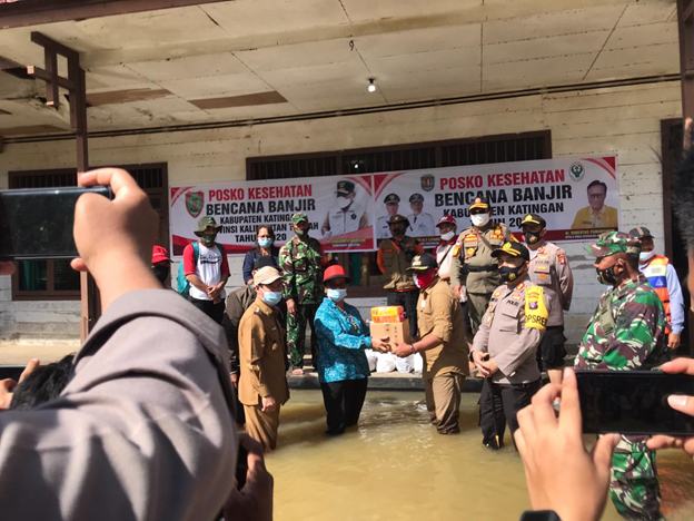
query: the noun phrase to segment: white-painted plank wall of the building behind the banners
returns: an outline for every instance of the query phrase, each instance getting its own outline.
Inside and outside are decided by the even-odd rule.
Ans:
[[[99,138],[90,140],[90,163],[167,163],[169,183],[182,185],[244,179],[246,158],[252,156],[549,129],[554,157],[618,155],[622,229],[650,227],[657,248],[664,237],[660,125],[662,119],[681,117],[681,110],[680,85],[656,83],[257,127]],[[73,141],[7,145],[0,154],[0,187],[7,187],[11,170],[61,167],[75,167]],[[565,245],[576,278],[567,317],[572,343],[579,341],[602,292],[584,245]],[[238,285],[240,260],[231,259],[230,265],[230,285]],[[9,281],[0,281],[0,338],[79,335],[79,303],[13,303],[8,288]]]

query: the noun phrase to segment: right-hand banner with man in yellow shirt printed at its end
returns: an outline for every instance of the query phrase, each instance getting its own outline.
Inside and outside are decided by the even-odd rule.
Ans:
[[[615,156],[375,174],[374,189],[377,239],[390,236],[386,220],[397,213],[409,220],[407,234],[425,247],[438,244],[435,225],[445,214],[456,218],[458,232],[470,226],[467,208],[477,197],[486,198],[494,218],[513,233],[520,233],[526,215],[541,215],[552,242],[592,239],[619,225]],[[386,205],[394,199],[398,206]]]

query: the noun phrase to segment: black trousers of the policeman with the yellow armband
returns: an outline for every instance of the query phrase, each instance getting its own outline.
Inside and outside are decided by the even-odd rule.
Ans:
[[[531,404],[539,386],[539,379],[527,384],[496,384],[485,379],[479,396],[482,443],[490,449],[500,449],[504,445],[506,423],[508,423],[513,440],[513,434],[518,429],[516,415],[518,411]],[[514,446],[516,446],[515,440]]]

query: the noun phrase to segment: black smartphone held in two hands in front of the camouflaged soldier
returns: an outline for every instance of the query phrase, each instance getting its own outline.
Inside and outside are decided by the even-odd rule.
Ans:
[[[667,404],[694,396],[694,376],[660,371],[576,371],[584,433],[693,435],[694,417]]]

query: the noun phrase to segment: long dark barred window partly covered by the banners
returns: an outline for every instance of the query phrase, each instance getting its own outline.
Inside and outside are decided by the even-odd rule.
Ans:
[[[486,136],[450,141],[418,142],[393,147],[307,154],[297,156],[251,157],[246,163],[246,179],[341,176],[379,171],[416,170],[489,163],[525,161],[552,157],[549,130]],[[375,253],[337,254],[337,262],[350,274],[350,295],[381,294],[383,276]]]

